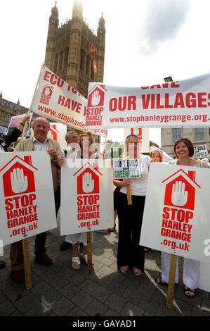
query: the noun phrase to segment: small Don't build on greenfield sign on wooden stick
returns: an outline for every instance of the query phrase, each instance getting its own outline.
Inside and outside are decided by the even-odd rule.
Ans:
[[[140,178],[139,158],[119,158],[113,160],[114,180]],[[132,204],[131,185],[126,186],[128,205]]]

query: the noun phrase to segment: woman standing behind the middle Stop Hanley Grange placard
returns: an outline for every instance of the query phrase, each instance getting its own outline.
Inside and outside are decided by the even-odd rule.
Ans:
[[[91,158],[98,159],[102,158],[100,154],[95,153],[95,139],[91,132],[87,131],[79,135],[79,146],[80,151],[74,151],[67,158]],[[92,148],[93,147],[93,148]],[[94,151],[93,151],[94,150]],[[59,165],[63,165],[65,158],[60,158]],[[76,233],[74,235],[67,235],[65,237],[65,241],[72,244],[73,254],[72,254],[72,268],[74,270],[79,270],[81,268],[81,262],[79,257],[79,243],[83,244],[83,253],[81,254],[81,258],[88,264],[88,256],[87,256],[87,233],[81,232]],[[92,261],[93,264],[93,261]]]

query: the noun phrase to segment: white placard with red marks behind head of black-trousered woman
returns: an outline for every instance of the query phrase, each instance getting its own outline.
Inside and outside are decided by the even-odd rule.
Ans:
[[[140,142],[140,153],[148,153],[150,151],[150,132],[149,129],[127,128],[124,129],[124,142],[128,135],[136,135]]]

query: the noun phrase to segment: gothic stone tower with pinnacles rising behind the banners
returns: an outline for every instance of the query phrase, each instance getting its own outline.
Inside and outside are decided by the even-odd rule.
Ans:
[[[58,8],[55,1],[49,18],[45,65],[87,97],[88,82],[103,82],[103,15],[98,22],[97,35],[93,35],[93,31],[83,20],[81,0],[74,0],[72,19],[60,27],[58,25]]]

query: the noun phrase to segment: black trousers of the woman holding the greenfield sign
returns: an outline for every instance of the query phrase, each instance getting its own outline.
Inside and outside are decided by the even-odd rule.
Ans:
[[[139,240],[145,196],[132,196],[132,205],[128,205],[126,194],[119,192],[118,198],[117,266],[132,266],[144,271],[145,251],[144,247],[139,245]]]

